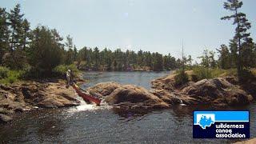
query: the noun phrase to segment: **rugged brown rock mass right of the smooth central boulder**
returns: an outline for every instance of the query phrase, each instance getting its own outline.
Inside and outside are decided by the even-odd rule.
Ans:
[[[186,73],[191,73],[190,71]],[[151,82],[151,93],[171,105],[209,104],[211,106],[238,106],[249,104],[255,88],[245,89],[239,86],[235,78],[211,78],[198,82],[186,82],[183,86],[175,86],[175,74],[157,78]],[[251,90],[251,91],[249,91]]]

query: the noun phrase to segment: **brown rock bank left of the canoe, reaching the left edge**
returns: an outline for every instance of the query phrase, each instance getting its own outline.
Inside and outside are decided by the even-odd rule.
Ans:
[[[66,83],[59,80],[0,85],[0,123],[10,122],[16,112],[78,106],[76,97],[74,90],[66,89]]]

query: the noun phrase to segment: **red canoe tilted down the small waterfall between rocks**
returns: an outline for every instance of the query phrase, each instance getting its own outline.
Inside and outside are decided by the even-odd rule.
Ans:
[[[73,84],[72,87],[74,88],[74,90],[78,93],[78,96],[79,97],[82,97],[82,99],[84,101],[89,101],[89,102],[94,102],[97,104],[97,106],[100,106],[101,104],[101,100],[98,99],[98,98],[94,98],[93,96],[89,95],[89,94],[85,94],[83,93],[80,88],[76,85],[76,84]]]

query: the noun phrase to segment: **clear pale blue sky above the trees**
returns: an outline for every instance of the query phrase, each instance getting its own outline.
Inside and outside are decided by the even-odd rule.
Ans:
[[[180,58],[193,58],[202,50],[215,50],[234,36],[224,0],[0,0],[10,10],[20,3],[32,27],[41,24],[70,34],[78,49],[149,50]],[[252,24],[256,39],[256,1],[244,0],[242,12]]]

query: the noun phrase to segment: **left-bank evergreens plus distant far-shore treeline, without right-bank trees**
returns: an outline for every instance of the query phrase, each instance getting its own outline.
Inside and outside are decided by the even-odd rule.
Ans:
[[[70,35],[63,42],[55,29],[37,26],[31,30],[19,4],[10,12],[0,8],[0,30],[0,65],[11,70],[47,75],[58,65],[74,62],[82,70],[172,70],[181,65],[181,60],[170,54],[142,50],[100,51],[97,47],[84,47],[78,51]]]

